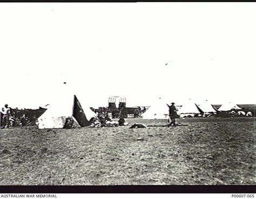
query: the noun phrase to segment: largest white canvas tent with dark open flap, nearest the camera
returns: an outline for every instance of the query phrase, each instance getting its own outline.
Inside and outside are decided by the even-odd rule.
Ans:
[[[72,118],[76,126],[88,126],[96,114],[86,106],[84,100],[78,101],[76,95],[58,95],[49,108],[38,118],[38,128],[63,128],[67,118]]]

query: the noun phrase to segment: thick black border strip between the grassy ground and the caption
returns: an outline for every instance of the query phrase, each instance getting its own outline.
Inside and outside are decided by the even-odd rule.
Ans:
[[[254,194],[253,185],[225,186],[0,186],[0,193],[49,193],[49,194],[89,194],[89,193],[166,193],[166,194]]]

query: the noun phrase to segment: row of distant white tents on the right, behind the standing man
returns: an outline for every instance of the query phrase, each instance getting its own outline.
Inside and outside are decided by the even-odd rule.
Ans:
[[[178,115],[181,117],[196,114],[208,114],[208,113],[217,113],[217,111],[231,111],[233,109],[241,109],[239,106],[228,102],[219,107],[215,108],[207,100],[201,102],[200,104],[193,102],[191,99],[183,103],[183,105],[178,108]],[[143,119],[166,119],[169,115],[168,107],[166,103],[159,98],[153,106],[151,106],[144,114]]]

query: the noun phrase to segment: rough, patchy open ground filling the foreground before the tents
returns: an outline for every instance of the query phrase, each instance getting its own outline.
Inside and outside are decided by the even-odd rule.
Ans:
[[[0,130],[0,185],[255,184],[254,118],[126,121]]]

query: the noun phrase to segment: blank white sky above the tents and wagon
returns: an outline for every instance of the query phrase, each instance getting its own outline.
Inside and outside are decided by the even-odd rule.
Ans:
[[[2,3],[0,105],[256,104],[256,3]],[[165,65],[168,63],[167,65]],[[33,84],[33,85],[28,85]]]

